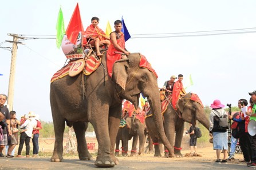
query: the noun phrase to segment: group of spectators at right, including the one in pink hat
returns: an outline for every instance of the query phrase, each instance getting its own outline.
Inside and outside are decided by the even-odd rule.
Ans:
[[[238,100],[238,108],[240,112],[236,112],[233,115],[227,115],[223,109],[224,104],[220,100],[214,100],[211,104],[210,114],[210,128],[209,135],[213,137],[213,147],[216,150],[215,163],[227,163],[228,160],[233,160],[235,156],[235,146],[239,138],[239,144],[241,145],[243,160],[241,162],[247,163],[247,167],[256,167],[256,135],[251,136],[248,132],[248,124],[251,120],[256,119],[256,91],[249,92],[250,106],[247,107],[246,99]],[[231,106],[230,106],[231,107]],[[228,157],[228,124],[227,118],[233,120],[231,124],[231,130],[238,133],[231,133],[231,145],[230,153]],[[235,135],[235,136],[233,136]],[[223,151],[223,159],[220,159],[220,153]]]

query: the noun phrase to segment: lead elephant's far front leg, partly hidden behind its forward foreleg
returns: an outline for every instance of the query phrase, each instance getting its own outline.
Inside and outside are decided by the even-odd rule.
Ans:
[[[117,136],[117,132],[119,131],[119,126],[121,121],[121,112],[122,112],[121,104],[109,110],[108,128],[109,128],[109,137],[111,141],[110,156],[111,156],[111,160],[114,161],[115,164],[119,164],[119,160],[115,156],[114,151],[115,151],[116,136]]]

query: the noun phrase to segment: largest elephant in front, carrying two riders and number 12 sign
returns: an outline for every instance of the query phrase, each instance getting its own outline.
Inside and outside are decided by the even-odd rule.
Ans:
[[[86,76],[82,72],[76,76],[64,76],[50,84],[50,106],[54,123],[55,143],[51,161],[62,161],[65,122],[73,126],[77,137],[77,151],[80,160],[90,160],[86,149],[85,122],[90,122],[99,144],[97,167],[114,167],[119,161],[114,154],[117,131],[121,119],[123,99],[132,102],[137,109],[139,96],[147,97],[156,124],[157,132],[167,147],[173,152],[163,128],[157,75],[148,67],[141,67],[147,59],[139,53],[132,53],[113,64],[112,78],[107,74],[107,55],[101,56],[100,66]],[[144,59],[143,59],[144,58]],[[170,155],[174,156],[174,155]]]

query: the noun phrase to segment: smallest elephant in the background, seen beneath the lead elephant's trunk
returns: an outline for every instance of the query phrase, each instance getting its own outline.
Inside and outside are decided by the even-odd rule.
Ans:
[[[126,118],[125,127],[120,127],[116,136],[115,155],[119,156],[119,143],[122,141],[122,156],[128,156],[128,141],[132,139],[131,156],[136,155],[137,141],[139,137],[139,155],[143,152],[145,144],[145,123],[141,123],[139,119],[132,117]]]

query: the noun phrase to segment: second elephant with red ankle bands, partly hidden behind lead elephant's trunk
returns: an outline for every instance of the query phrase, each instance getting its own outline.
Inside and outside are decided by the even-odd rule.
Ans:
[[[177,111],[175,111],[169,103],[167,110],[163,113],[164,130],[170,144],[174,147],[174,154],[176,157],[182,156],[180,150],[182,149],[181,144],[184,131],[184,122],[191,123],[192,126],[195,127],[196,120],[198,120],[198,122],[203,124],[203,126],[207,129],[210,127],[210,122],[204,112],[203,106],[200,103],[191,100],[191,96],[192,94],[188,93],[178,100]],[[182,118],[179,116],[179,111]],[[152,124],[152,120],[153,119],[149,116],[145,119],[145,123],[148,128],[149,135],[151,135],[153,143],[155,144],[155,156],[161,156],[162,151],[159,148],[159,145],[162,142],[159,140],[156,133],[157,128]],[[165,157],[168,157],[168,155],[170,155],[170,153],[165,150]]]

